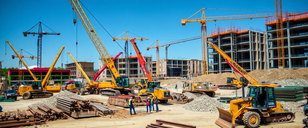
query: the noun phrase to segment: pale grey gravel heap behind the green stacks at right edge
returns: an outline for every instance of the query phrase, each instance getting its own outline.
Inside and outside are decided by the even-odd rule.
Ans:
[[[281,87],[285,87],[285,86],[308,86],[308,80],[304,80],[304,79],[276,80],[274,82],[281,84]]]

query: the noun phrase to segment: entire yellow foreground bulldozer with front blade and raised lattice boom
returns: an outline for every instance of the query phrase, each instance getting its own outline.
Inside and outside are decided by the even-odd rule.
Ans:
[[[242,98],[230,101],[230,109],[228,111],[216,107],[219,111],[219,118],[215,122],[217,125],[224,128],[232,128],[235,125],[236,119],[242,119],[246,127],[256,128],[261,120],[265,124],[279,124],[292,122],[295,119],[293,112],[285,111],[282,104],[276,102],[274,91],[276,84],[259,83],[219,47],[212,42],[208,41],[207,43],[225,59],[225,62],[235,72],[239,73],[250,83],[248,85],[248,95],[245,96],[244,86],[242,86]]]

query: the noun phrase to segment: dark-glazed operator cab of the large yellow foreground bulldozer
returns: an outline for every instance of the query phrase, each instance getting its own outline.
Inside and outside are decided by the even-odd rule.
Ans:
[[[249,86],[248,97],[252,96],[251,106],[256,108],[276,107],[276,96],[274,87]]]

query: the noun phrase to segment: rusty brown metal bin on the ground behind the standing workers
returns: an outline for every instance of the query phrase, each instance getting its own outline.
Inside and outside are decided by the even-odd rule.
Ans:
[[[145,105],[145,102],[141,99],[140,96],[135,95],[119,95],[119,96],[109,96],[107,103],[115,105],[115,106],[121,106],[121,107],[129,107],[128,106],[128,100],[130,97],[133,97],[135,102],[133,103],[134,106],[142,106]]]

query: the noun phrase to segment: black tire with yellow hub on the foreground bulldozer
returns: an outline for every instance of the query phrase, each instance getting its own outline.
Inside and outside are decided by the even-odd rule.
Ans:
[[[255,111],[245,112],[243,122],[248,128],[256,128],[260,124],[260,115]]]

